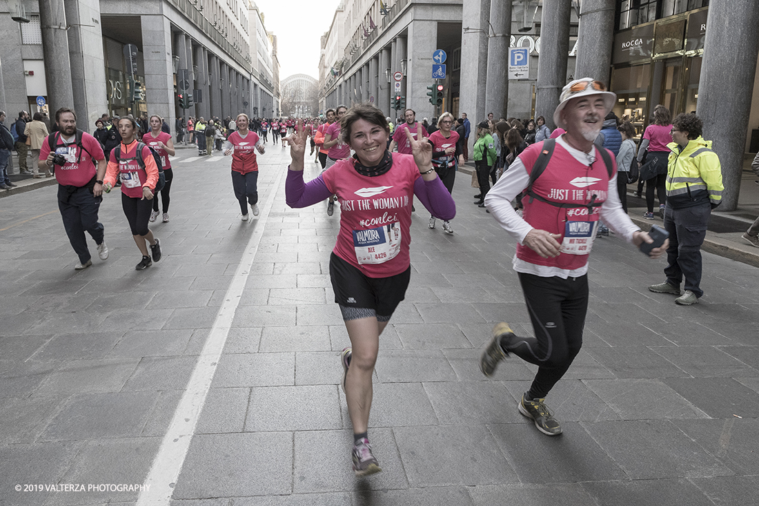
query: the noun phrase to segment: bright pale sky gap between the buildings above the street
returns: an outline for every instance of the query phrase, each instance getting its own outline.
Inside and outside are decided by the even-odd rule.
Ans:
[[[277,36],[279,79],[308,74],[319,79],[320,38],[340,0],[255,0],[266,30]]]

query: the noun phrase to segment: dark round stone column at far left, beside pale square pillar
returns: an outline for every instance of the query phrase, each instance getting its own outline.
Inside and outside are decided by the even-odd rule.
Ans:
[[[55,124],[56,110],[61,107],[74,107],[74,88],[71,85],[71,59],[69,59],[68,52],[63,0],[39,2],[39,24],[43,33],[43,58],[45,59],[49,117],[51,125],[53,125]],[[12,115],[13,112],[9,111],[8,114]],[[87,130],[89,131],[89,128]]]

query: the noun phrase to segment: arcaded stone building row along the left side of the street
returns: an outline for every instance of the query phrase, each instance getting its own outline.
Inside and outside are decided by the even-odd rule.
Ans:
[[[90,131],[102,113],[157,114],[173,128],[178,115],[275,109],[272,34],[249,0],[31,0],[30,22],[11,14],[0,12],[4,40],[17,40],[0,60],[11,111],[73,106]]]

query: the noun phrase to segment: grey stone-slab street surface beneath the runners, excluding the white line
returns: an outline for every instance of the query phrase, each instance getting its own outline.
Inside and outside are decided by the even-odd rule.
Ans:
[[[412,216],[411,285],[373,376],[383,473],[356,479],[337,355],[349,340],[329,280],[339,210],[289,209],[274,186],[288,154],[272,147],[260,157],[268,216],[241,222],[227,169],[207,177],[226,162],[192,158],[172,186],[172,221],[151,225],[164,258],[141,272],[118,194],[100,211],[111,258],[80,272],[55,188],[3,201],[0,502],[134,504],[8,491],[142,482],[254,232],[172,504],[752,504],[759,493],[755,268],[704,253],[705,296],[680,307],[647,290],[665,261],[597,241],[584,347],[546,400],[565,432],[546,438],[516,409],[535,366],[512,356],[493,378],[477,368],[496,321],[533,329],[515,242],[468,203],[463,174],[453,236],[427,229],[424,210]],[[307,164],[305,177],[318,172]],[[42,217],[18,224],[27,216]]]

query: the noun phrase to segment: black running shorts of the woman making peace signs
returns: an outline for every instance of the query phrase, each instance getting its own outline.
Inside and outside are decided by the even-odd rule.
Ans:
[[[390,277],[368,277],[356,267],[332,253],[329,257],[329,279],[335,302],[346,308],[370,308],[377,315],[389,316],[404,299],[411,266]]]

